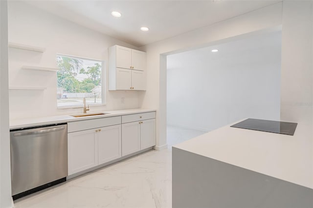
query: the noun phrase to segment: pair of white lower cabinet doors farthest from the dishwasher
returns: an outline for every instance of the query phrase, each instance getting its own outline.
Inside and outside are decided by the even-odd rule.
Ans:
[[[122,156],[156,145],[156,119],[122,124]]]

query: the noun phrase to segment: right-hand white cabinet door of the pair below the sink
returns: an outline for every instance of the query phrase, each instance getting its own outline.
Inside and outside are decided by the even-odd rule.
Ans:
[[[122,156],[122,125],[100,128],[98,131],[98,165]]]

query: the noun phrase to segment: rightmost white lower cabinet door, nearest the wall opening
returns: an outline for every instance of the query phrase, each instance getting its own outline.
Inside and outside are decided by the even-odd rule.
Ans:
[[[140,143],[141,149],[156,145],[156,119],[141,121]]]

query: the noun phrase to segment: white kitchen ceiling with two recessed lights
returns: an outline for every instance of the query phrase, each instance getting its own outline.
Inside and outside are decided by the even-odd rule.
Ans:
[[[134,46],[157,42],[281,0],[23,0]],[[121,18],[111,15],[113,10]],[[148,32],[140,31],[146,26]]]

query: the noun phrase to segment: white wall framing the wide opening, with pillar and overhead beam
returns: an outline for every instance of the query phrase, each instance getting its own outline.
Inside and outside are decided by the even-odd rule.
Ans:
[[[166,147],[166,55],[236,39],[236,36],[278,27],[282,3],[276,3],[179,36],[155,42],[141,49],[147,52],[147,91],[142,107],[156,108],[156,149]]]

